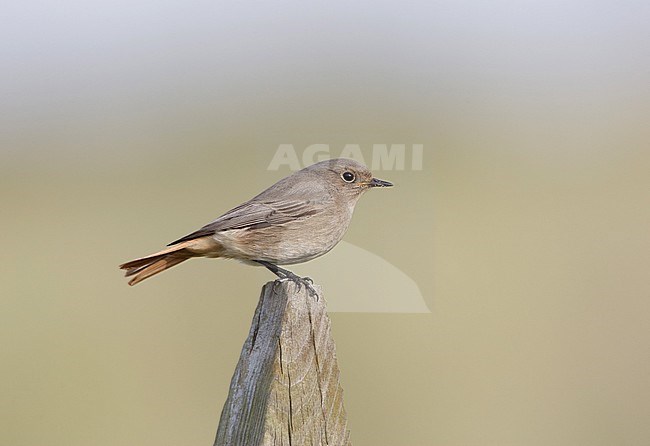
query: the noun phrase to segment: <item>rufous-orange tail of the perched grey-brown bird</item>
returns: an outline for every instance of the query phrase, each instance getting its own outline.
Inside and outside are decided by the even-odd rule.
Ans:
[[[120,269],[126,270],[126,277],[133,276],[129,280],[129,285],[135,285],[189,258],[203,256],[204,252],[201,249],[203,247],[200,246],[200,242],[200,240],[188,240],[170,246],[155,254],[123,263],[120,265]]]

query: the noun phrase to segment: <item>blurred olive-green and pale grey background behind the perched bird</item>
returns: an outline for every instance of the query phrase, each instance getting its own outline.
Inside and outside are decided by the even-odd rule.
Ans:
[[[425,149],[376,172],[398,187],[345,239],[431,310],[331,315],[355,445],[650,444],[647,3],[0,17],[0,444],[211,445],[270,274],[201,260],[130,288],[117,264],[317,143]],[[341,299],[319,262],[300,271]]]

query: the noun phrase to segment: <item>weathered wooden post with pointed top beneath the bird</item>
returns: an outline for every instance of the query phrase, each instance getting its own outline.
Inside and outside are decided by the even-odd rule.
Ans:
[[[262,288],[215,446],[351,446],[336,348],[318,298],[286,279]]]

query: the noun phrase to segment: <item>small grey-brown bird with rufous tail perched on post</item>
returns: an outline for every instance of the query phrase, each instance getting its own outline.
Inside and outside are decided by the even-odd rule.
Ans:
[[[135,285],[191,257],[223,257],[302,281],[278,265],[327,253],[343,237],[359,197],[373,187],[390,186],[357,161],[322,161],[283,178],[167,249],[120,268],[133,276],[129,285]]]

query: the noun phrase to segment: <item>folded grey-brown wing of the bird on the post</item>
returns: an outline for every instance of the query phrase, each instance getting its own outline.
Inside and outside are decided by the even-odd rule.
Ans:
[[[293,220],[311,217],[322,211],[322,206],[316,205],[313,201],[249,201],[229,210],[212,223],[208,223],[201,229],[175,240],[167,246],[212,235],[220,231],[228,231],[231,229],[260,229],[273,225],[281,225]]]

